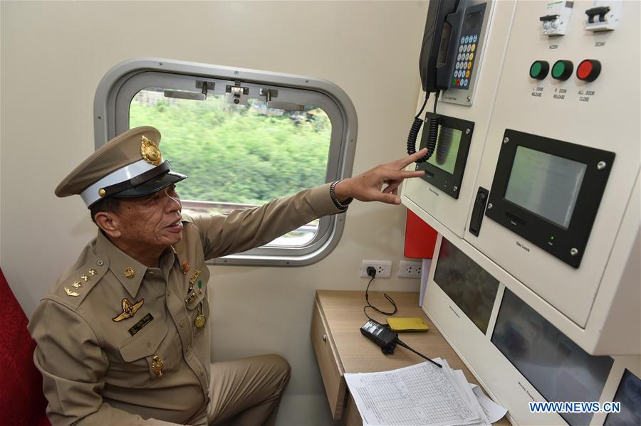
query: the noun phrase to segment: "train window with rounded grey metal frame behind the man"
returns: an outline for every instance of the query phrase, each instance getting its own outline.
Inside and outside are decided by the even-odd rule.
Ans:
[[[119,67],[123,64],[114,70]],[[334,96],[328,87],[313,87],[308,78],[304,81],[311,87],[301,87],[301,79],[289,75],[244,70],[232,79],[227,68],[170,61],[156,70],[127,73],[126,68],[116,73],[110,88],[103,84],[114,70],[100,83],[96,116],[103,113],[106,122],[97,122],[96,139],[103,135],[99,128],[104,141],[132,127],[159,129],[172,169],[189,176],[179,184],[189,215],[260,206],[341,179],[351,169],[355,114],[347,96],[330,83],[317,82],[338,90]],[[105,92],[103,102],[98,102],[100,92]],[[313,220],[263,247],[213,262],[315,262],[338,243],[343,217]]]

